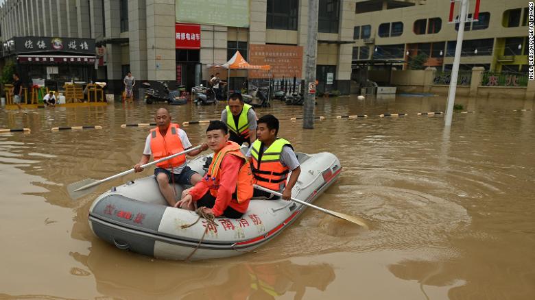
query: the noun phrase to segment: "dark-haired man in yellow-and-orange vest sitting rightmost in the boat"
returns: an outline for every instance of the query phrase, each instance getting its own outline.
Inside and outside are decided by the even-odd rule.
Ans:
[[[252,143],[246,156],[251,162],[254,184],[283,194],[283,199],[292,197],[292,188],[299,178],[301,167],[292,144],[277,138],[278,119],[272,114],[261,116],[257,121],[257,140]],[[292,175],[286,184],[288,173]],[[253,198],[278,199],[263,190],[254,190]]]

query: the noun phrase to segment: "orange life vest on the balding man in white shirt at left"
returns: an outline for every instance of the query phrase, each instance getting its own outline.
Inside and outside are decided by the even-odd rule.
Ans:
[[[180,136],[178,136],[178,128],[180,128],[180,126],[176,123],[169,124],[165,136],[160,134],[160,129],[158,129],[158,127],[150,129],[150,151],[152,151],[154,160],[159,160],[160,158],[165,158],[169,155],[184,151],[184,146],[182,146],[182,141],[180,140]],[[178,155],[170,160],[158,162],[156,166],[159,168],[174,168],[181,166],[185,162],[186,155]]]

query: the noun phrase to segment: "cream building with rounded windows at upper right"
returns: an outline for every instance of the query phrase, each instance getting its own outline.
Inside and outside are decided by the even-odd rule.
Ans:
[[[453,18],[457,18],[457,2]],[[470,1],[472,18],[475,1]],[[450,1],[357,0],[353,28],[353,62],[403,60],[416,55],[424,66],[450,71],[458,24],[448,23]],[[482,0],[479,21],[466,23],[460,70],[483,66],[488,71],[527,72],[527,1]]]

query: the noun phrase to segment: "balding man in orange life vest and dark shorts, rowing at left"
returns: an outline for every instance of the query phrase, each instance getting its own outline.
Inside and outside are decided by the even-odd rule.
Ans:
[[[139,164],[134,166],[136,173],[143,171],[141,165],[149,162],[151,154],[154,156],[154,160],[159,160],[191,148],[191,142],[189,142],[186,132],[180,129],[178,124],[171,123],[171,114],[166,108],[159,108],[154,119],[157,127],[150,130],[150,134],[145,140],[145,149],[141,155],[141,160],[139,160]],[[193,150],[188,155],[195,156],[206,149],[208,149],[208,145],[205,143],[201,149]],[[178,155],[171,160],[156,164],[154,176],[158,186],[160,186],[160,192],[171,206],[175,205],[176,201],[175,191],[169,183],[194,185],[202,179],[201,175],[187,166],[186,155]]]

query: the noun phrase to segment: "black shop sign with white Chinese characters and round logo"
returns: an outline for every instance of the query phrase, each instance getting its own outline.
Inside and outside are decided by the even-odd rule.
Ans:
[[[92,38],[25,36],[14,38],[14,44],[16,53],[62,51],[95,54],[95,40]]]

